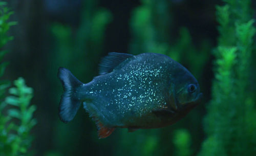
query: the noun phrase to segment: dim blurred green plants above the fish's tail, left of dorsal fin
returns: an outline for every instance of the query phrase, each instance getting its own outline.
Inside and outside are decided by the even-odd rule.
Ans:
[[[90,81],[98,71],[95,70],[98,64],[95,60],[102,54],[102,47],[106,26],[111,22],[111,13],[97,7],[97,1],[83,1],[81,9],[80,25],[77,29],[71,26],[58,23],[52,24],[51,32],[54,36],[54,52],[51,54],[55,61],[49,62],[49,66],[70,66],[71,70],[77,73],[91,73],[86,76]],[[72,53],[71,53],[72,52]],[[62,57],[59,57],[62,56]],[[68,61],[67,61],[68,60]],[[56,63],[58,62],[58,63]],[[77,66],[88,68],[78,69]],[[56,66],[58,68],[59,66]],[[56,69],[51,71],[56,73]]]

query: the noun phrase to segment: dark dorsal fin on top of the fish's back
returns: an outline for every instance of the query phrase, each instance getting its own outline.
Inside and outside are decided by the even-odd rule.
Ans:
[[[121,62],[133,56],[134,55],[132,54],[125,53],[109,53],[109,55],[105,56],[99,64],[99,75],[112,72]]]

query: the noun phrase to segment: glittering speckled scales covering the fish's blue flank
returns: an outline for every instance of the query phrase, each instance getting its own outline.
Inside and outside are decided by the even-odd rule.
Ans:
[[[165,76],[166,69],[161,66],[166,66],[165,62],[148,64],[154,60],[147,58],[143,60],[143,63],[137,62],[138,60],[141,62],[143,56],[136,58],[134,63],[131,62],[132,64],[123,66],[122,70],[114,70],[112,73],[104,75],[105,78],[96,77],[94,83],[89,85],[90,91],[88,92],[93,92],[95,97],[92,99],[97,99],[92,104],[101,110],[109,110],[101,112],[98,117],[104,125],[122,127],[124,123],[129,123],[130,125],[126,126],[142,126],[143,123],[136,121],[133,123],[129,117],[141,117],[150,114],[153,109],[159,109],[166,105],[164,94],[159,92],[166,86],[166,82],[163,80],[168,75]],[[115,83],[114,86],[111,85],[113,83]],[[87,91],[88,89],[82,88],[81,90]],[[99,93],[99,90],[102,92]],[[105,96],[97,98],[99,94]],[[103,118],[107,117],[110,112],[116,115],[115,119]]]

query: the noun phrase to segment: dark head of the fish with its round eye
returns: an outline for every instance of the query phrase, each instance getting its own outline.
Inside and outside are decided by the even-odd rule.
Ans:
[[[174,110],[195,106],[202,98],[197,79],[182,65],[173,74],[172,92],[174,100],[171,106]]]

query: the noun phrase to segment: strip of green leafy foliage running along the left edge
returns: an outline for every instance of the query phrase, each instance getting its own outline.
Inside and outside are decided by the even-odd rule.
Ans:
[[[7,3],[0,2],[0,49],[12,40],[8,36],[9,28],[16,22],[9,22],[12,11],[6,7]],[[7,51],[0,51],[0,60],[3,60]],[[0,77],[3,76],[7,62],[0,64]],[[6,97],[9,81],[0,81],[0,155],[24,155],[31,146],[31,128],[36,124],[33,119],[35,105],[29,105],[33,97],[33,90],[27,87],[23,78],[14,81],[15,87],[9,89],[10,96]],[[6,98],[5,98],[6,97]],[[5,112],[6,115],[5,115]]]

